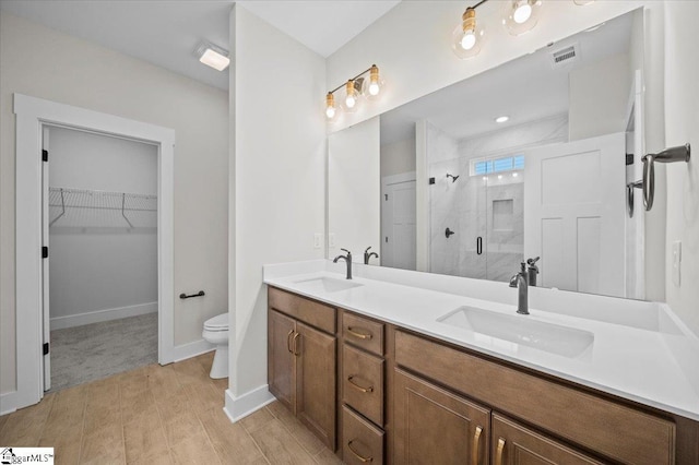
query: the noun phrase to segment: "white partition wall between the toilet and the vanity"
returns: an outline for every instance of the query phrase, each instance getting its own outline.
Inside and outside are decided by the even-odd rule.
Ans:
[[[262,265],[321,259],[324,60],[240,4],[230,17],[230,390],[233,417],[266,398]]]

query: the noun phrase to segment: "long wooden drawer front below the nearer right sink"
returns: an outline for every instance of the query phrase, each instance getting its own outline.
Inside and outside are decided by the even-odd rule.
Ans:
[[[675,461],[672,421],[400,331],[395,361],[618,462]]]

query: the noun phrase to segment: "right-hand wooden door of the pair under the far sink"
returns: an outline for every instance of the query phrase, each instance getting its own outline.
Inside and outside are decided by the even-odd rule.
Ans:
[[[296,416],[334,451],[337,339],[301,322],[296,332]]]

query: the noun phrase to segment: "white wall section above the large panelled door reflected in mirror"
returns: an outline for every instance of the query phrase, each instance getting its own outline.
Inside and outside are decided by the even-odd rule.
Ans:
[[[628,69],[628,55],[618,53],[570,72],[570,141],[626,131],[632,80]]]

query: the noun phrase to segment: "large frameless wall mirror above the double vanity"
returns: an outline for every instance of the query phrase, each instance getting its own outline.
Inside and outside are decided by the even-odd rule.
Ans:
[[[643,55],[636,10],[332,134],[331,258],[644,298]]]

